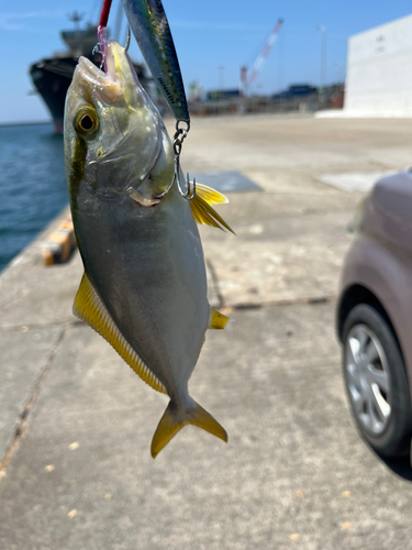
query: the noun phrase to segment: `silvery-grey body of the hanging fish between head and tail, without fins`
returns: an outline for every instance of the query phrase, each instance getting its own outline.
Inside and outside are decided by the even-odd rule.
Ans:
[[[189,202],[170,191],[152,208],[114,194],[78,205],[76,233],[94,289],[170,397],[185,399],[210,315]]]

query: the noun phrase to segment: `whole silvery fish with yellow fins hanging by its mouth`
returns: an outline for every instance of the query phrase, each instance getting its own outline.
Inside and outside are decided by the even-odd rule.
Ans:
[[[170,139],[115,41],[107,45],[107,73],[79,58],[66,97],[64,148],[85,267],[73,312],[169,396],[152,457],[187,425],[227,442],[225,429],[188,388],[205,331],[229,321],[209,305],[197,226],[232,231],[212,208],[227,199],[197,185],[187,200],[170,186]]]

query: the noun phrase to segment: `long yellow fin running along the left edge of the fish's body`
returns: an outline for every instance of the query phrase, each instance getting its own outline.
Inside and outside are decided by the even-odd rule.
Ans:
[[[77,290],[73,314],[99,332],[146,384],[157,392],[167,394],[162,382],[123,337],[86,273]]]

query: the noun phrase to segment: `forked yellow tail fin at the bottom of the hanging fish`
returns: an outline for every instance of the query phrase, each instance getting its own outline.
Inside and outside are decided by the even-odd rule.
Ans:
[[[153,436],[152,457],[155,459],[176,433],[189,424],[209,431],[227,443],[226,430],[198,403],[194,402],[194,408],[190,410],[181,410],[170,402]]]

